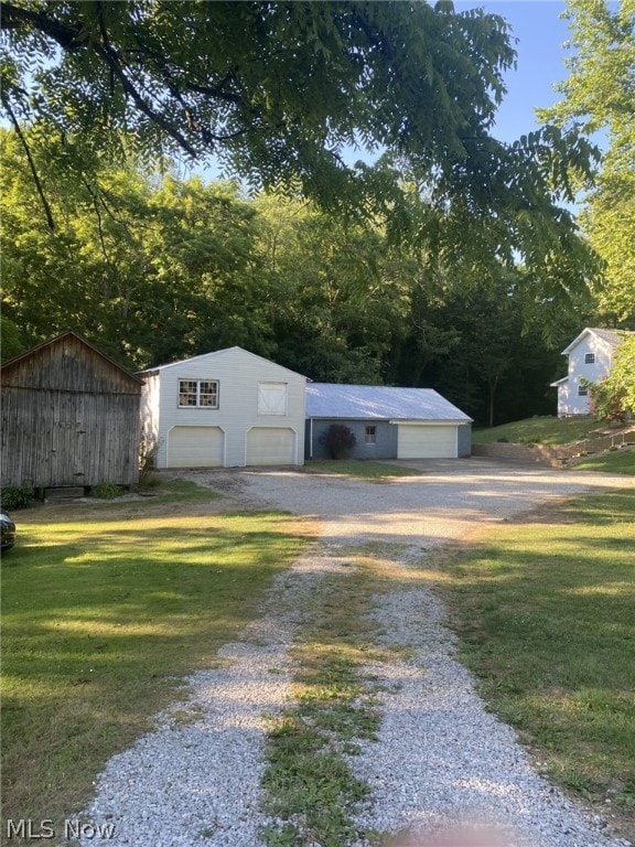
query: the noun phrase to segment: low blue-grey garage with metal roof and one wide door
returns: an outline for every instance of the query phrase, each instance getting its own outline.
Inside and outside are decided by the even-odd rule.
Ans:
[[[306,458],[325,459],[322,438],[345,424],[354,459],[456,459],[472,452],[472,418],[432,388],[306,386]]]

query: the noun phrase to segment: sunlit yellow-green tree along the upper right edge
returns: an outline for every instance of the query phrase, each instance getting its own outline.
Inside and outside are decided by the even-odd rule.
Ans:
[[[635,314],[635,0],[613,8],[606,0],[569,0],[571,43],[563,99],[543,118],[588,133],[605,132],[609,150],[581,223],[606,262],[596,289],[605,318]],[[634,324],[635,325],[635,324]]]

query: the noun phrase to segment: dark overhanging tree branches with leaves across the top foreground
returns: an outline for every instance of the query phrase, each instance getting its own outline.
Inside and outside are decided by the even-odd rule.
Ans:
[[[387,217],[446,260],[520,253],[543,269],[580,247],[559,201],[591,148],[555,127],[509,147],[489,133],[515,56],[498,15],[449,2],[9,0],[2,25],[1,101],[50,227],[44,139],[76,176],[131,152],[214,156],[250,186]],[[380,161],[347,164],[355,144]],[[568,287],[591,272],[578,260]]]

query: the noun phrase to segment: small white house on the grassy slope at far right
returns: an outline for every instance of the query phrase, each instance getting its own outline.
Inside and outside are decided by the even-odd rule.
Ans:
[[[613,354],[624,334],[621,330],[586,326],[562,351],[562,355],[569,357],[569,373],[551,383],[553,388],[558,388],[558,417],[590,414],[589,389],[583,380],[599,383],[607,376]]]

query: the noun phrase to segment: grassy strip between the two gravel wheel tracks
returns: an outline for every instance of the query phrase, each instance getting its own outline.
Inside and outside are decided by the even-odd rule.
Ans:
[[[364,678],[372,660],[389,651],[369,646],[367,613],[380,587],[377,559],[354,555],[347,576],[325,578],[293,651],[297,705],[271,723],[263,776],[265,811],[280,822],[262,837],[269,847],[341,847],[357,840],[352,814],[369,792],[353,775],[348,755],[379,723],[376,693]]]

